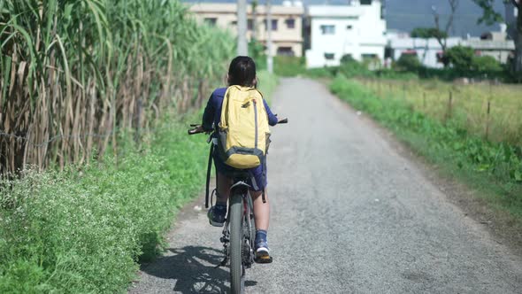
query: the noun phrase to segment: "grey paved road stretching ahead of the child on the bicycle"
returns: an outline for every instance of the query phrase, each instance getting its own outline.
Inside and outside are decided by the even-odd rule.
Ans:
[[[522,259],[323,85],[282,80],[273,111],[290,120],[268,160],[274,262],[247,272],[247,292],[522,293]],[[219,235],[188,207],[130,292],[226,292]]]

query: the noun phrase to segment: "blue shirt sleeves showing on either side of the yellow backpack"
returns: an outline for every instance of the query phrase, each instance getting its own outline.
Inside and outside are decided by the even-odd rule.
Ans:
[[[203,129],[205,131],[211,131],[212,123],[214,126],[219,126],[219,121],[221,120],[221,106],[223,105],[223,97],[225,97],[226,88],[218,88],[215,89],[211,97],[209,98],[209,102],[204,109],[203,112]],[[271,126],[277,125],[279,121],[277,116],[275,116],[268,104],[266,104],[265,99],[263,99],[263,104],[265,104],[266,114],[268,114],[268,124]]]

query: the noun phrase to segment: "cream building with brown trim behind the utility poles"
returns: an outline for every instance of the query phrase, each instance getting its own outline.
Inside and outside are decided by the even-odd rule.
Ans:
[[[236,7],[236,4],[194,4],[190,7],[190,11],[195,13],[198,21],[211,23],[210,19],[215,19],[216,26],[225,28],[231,34],[237,35]],[[259,42],[266,45],[268,34],[265,6],[257,6],[256,12],[255,37]],[[248,8],[247,18],[250,23],[247,37],[251,40],[254,37],[251,6]],[[303,55],[303,7],[273,5],[272,19],[275,23],[272,31],[273,55],[277,55],[279,52],[281,55],[293,54],[296,57],[301,57]],[[294,20],[294,27],[289,26],[288,19]]]

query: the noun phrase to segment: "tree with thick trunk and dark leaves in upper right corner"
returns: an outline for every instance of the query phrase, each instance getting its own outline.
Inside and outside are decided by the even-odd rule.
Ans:
[[[483,11],[482,17],[478,20],[478,23],[493,25],[495,22],[503,21],[502,15],[495,12],[495,9],[493,9],[493,3],[495,0],[473,0],[473,2],[479,5]],[[503,2],[505,4],[513,4],[515,9],[518,10],[515,35],[513,36],[513,40],[515,41],[513,70],[517,73],[522,73],[522,0],[503,0]]]

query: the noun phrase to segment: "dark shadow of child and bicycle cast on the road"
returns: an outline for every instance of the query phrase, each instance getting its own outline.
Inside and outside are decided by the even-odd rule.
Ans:
[[[227,267],[218,267],[223,259],[223,252],[209,247],[185,246],[171,248],[174,255],[164,256],[150,265],[142,266],[142,271],[162,279],[176,281],[174,291],[181,293],[227,293],[230,289]],[[245,286],[254,286],[257,282],[245,281]]]

